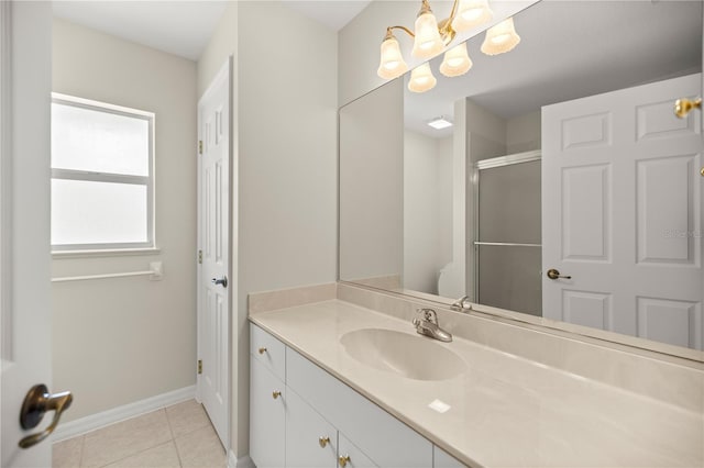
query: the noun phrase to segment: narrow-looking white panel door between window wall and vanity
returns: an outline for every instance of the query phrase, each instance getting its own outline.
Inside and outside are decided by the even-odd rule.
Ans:
[[[198,395],[223,446],[230,415],[230,62],[198,103]]]

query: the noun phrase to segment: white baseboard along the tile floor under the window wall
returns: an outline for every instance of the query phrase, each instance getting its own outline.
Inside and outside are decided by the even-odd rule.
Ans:
[[[52,441],[58,442],[76,437],[77,435],[81,435],[120,421],[129,420],[130,417],[139,416],[151,411],[156,411],[164,406],[180,403],[182,401],[190,400],[195,397],[196,386],[184,387],[183,389],[157,394],[156,397],[135,401],[134,403],[128,403],[76,421],[62,423],[56,427],[56,431],[54,431]]]

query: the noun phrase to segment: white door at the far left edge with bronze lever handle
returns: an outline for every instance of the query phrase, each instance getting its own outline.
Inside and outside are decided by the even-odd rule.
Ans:
[[[50,310],[51,27],[51,3],[0,2],[0,466],[7,468],[47,467],[52,459],[51,438],[19,447],[24,437],[44,433],[55,416],[48,412],[28,431],[19,422],[30,388],[44,383],[55,390]]]

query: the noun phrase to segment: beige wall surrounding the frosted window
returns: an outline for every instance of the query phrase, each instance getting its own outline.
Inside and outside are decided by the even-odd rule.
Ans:
[[[75,394],[66,420],[195,385],[196,64],[54,21],[53,90],[156,113],[161,253],[53,260],[53,276],[146,277],[54,283],[54,382]]]

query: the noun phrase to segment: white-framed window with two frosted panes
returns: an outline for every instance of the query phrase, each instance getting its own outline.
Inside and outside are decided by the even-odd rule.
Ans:
[[[52,99],[52,249],[154,247],[154,114]]]

